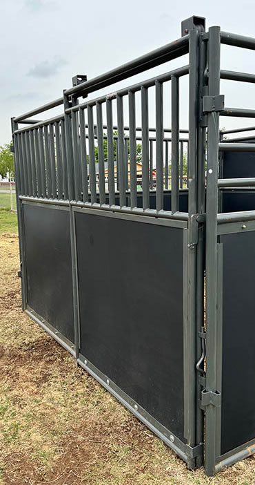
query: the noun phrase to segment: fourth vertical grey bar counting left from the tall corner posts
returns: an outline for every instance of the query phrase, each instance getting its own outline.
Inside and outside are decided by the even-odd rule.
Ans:
[[[130,119],[130,206],[137,207],[136,176],[136,104],[135,93],[128,93],[128,111]]]

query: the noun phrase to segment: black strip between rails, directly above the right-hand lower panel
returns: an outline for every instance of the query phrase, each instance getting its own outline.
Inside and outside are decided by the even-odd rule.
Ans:
[[[229,190],[223,192],[223,212],[253,211],[255,191]]]

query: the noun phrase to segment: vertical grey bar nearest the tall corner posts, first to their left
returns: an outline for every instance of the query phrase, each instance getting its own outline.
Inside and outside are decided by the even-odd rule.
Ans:
[[[179,211],[179,78],[171,77],[172,87],[172,213]]]

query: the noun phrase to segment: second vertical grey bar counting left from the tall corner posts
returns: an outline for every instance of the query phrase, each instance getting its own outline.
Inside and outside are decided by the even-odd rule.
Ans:
[[[156,86],[156,210],[163,209],[163,86]]]

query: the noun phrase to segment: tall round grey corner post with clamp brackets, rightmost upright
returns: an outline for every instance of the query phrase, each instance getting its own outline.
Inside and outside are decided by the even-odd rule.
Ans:
[[[220,92],[221,29],[209,29],[208,94]],[[219,113],[208,113],[207,189],[206,189],[206,390],[217,392],[217,213],[218,213],[218,128]],[[213,296],[213,297],[212,297]],[[216,407],[205,410],[205,471],[215,474],[216,461]]]

